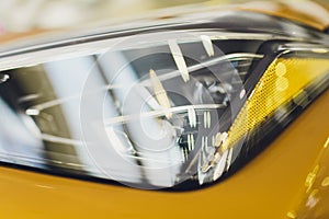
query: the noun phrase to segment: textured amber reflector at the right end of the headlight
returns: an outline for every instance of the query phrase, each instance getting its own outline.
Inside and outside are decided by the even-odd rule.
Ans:
[[[245,135],[285,103],[303,95],[304,89],[329,73],[329,59],[277,58],[264,72],[228,131],[222,151],[235,146]]]

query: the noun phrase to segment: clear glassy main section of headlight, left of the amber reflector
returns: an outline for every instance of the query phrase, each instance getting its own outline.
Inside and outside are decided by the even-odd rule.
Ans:
[[[2,72],[0,159],[146,188],[193,180],[231,123],[238,67],[256,57],[229,61],[205,36],[174,46],[175,56],[161,43]]]

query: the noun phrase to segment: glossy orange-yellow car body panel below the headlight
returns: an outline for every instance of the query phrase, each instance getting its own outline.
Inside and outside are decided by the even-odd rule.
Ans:
[[[0,218],[287,218],[328,216],[329,92],[228,180],[185,193],[139,191],[0,168]],[[320,157],[320,158],[319,158]],[[305,207],[305,181],[319,164]],[[324,178],[325,177],[325,178]],[[313,192],[314,189],[318,189]]]

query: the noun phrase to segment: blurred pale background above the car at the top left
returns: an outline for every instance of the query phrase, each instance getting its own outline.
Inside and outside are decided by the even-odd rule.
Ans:
[[[0,0],[0,33],[122,21],[123,18],[143,16],[155,9],[171,7],[179,11],[200,4],[217,5],[248,1],[251,0]],[[284,2],[288,1],[298,4],[305,0]]]

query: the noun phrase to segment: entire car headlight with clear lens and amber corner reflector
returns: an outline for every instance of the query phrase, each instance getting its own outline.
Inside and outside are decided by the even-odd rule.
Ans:
[[[197,28],[2,54],[1,161],[143,188],[216,182],[328,88],[317,34]]]

